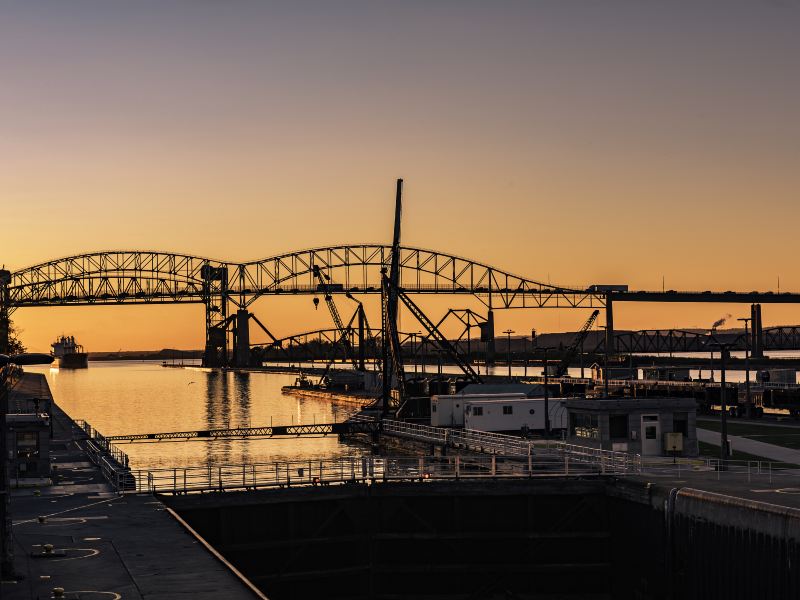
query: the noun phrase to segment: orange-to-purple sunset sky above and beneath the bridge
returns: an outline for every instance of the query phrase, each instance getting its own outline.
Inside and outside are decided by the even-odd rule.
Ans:
[[[565,285],[800,291],[798,31],[790,0],[3,2],[0,264],[388,243],[403,177],[409,245]],[[330,323],[307,297],[254,311]],[[749,307],[624,305],[616,326],[726,313]],[[200,306],[13,318],[33,350],[203,343]]]

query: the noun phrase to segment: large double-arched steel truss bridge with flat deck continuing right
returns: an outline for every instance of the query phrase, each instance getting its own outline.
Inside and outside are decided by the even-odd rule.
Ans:
[[[612,334],[613,302],[800,303],[800,294],[769,292],[582,290],[435,250],[401,246],[399,252],[399,286],[406,294],[471,296],[489,311],[605,307]],[[10,273],[0,290],[0,312],[38,306],[202,303],[205,364],[227,364],[231,341],[235,364],[244,364],[250,347],[247,310],[255,300],[273,295],[380,294],[381,271],[390,266],[391,253],[391,246],[383,244],[340,245],[237,263],[155,251],[93,252]],[[320,284],[315,271],[329,283]]]

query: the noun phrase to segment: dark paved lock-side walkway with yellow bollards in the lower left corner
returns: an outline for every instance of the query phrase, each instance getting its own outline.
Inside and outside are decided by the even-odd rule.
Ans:
[[[150,495],[119,497],[86,459],[80,433],[54,410],[54,464],[61,483],[20,489],[11,498],[15,569],[24,579],[2,584],[3,600],[258,598]],[[40,522],[44,516],[44,522]],[[41,558],[44,544],[58,556]]]

